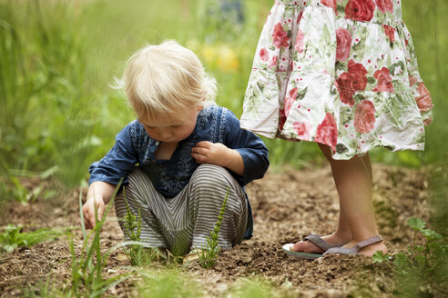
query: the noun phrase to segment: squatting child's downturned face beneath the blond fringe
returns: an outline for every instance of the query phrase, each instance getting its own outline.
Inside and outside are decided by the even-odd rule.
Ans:
[[[202,106],[187,108],[181,113],[173,115],[160,115],[138,120],[147,131],[147,134],[163,143],[178,143],[188,137],[196,126],[196,118]]]

